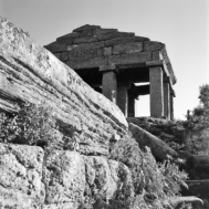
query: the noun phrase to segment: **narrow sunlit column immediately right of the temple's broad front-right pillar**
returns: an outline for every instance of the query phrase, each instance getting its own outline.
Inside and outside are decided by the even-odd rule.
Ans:
[[[170,86],[168,82],[164,83],[164,116],[170,119]]]

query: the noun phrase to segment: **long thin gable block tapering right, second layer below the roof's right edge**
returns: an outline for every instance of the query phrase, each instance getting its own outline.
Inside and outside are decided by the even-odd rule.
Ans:
[[[143,36],[116,38],[113,40],[105,41],[105,46],[118,45],[118,44],[132,43],[132,42],[143,42],[147,40],[148,40],[147,38],[143,38]]]

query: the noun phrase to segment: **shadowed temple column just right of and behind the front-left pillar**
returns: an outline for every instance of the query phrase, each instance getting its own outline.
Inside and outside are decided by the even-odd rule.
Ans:
[[[128,86],[121,85],[117,86],[117,105],[127,117],[128,113]]]

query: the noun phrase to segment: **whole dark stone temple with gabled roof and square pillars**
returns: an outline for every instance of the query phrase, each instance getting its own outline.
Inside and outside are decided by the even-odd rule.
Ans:
[[[116,103],[126,117],[135,116],[135,100],[149,94],[150,116],[174,118],[177,80],[164,43],[85,24],[45,49]]]

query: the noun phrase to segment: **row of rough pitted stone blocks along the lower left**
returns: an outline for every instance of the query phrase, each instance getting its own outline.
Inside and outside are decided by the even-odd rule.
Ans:
[[[133,194],[128,168],[104,157],[4,144],[0,156],[1,208],[77,209]]]

